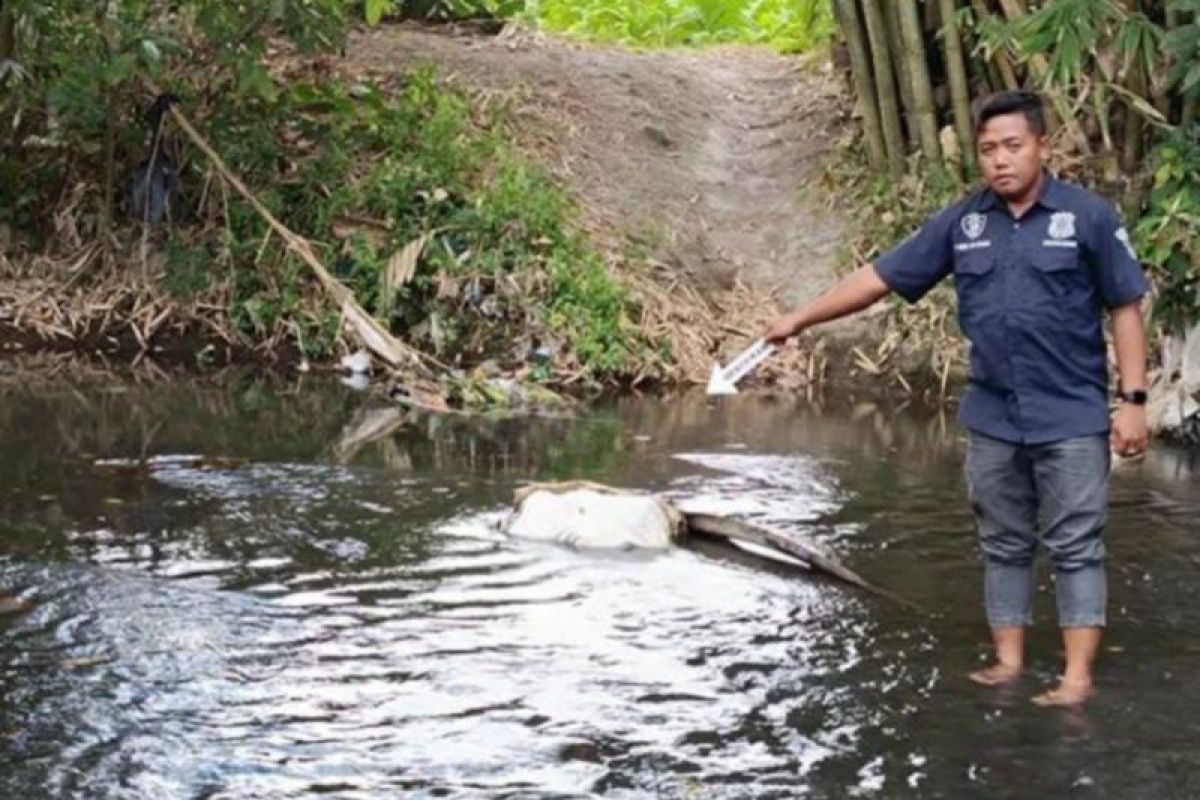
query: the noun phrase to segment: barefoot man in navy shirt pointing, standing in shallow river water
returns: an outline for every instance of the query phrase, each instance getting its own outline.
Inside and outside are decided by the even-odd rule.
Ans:
[[[976,112],[986,187],[931,217],[911,239],[830,291],[775,320],[766,338],[860,311],[895,291],[918,301],[953,275],[971,377],[959,413],[968,429],[967,483],[985,565],[996,661],[971,679],[1014,680],[1032,621],[1033,557],[1055,571],[1066,670],[1040,705],[1093,692],[1105,625],[1100,534],[1110,447],[1146,447],[1148,285],[1112,206],[1052,178],[1045,113],[1032,92],[992,95]],[[1102,307],[1112,321],[1121,407],[1110,420]]]

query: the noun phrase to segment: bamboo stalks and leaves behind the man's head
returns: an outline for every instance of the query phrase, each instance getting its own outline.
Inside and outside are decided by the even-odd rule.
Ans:
[[[1200,319],[1200,0],[833,0],[871,166],[973,178],[971,102],[1034,89],[1052,167],[1117,200],[1156,318]]]

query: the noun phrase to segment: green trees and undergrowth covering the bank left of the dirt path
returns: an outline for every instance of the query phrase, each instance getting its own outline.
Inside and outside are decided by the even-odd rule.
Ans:
[[[631,325],[632,301],[575,229],[570,203],[506,144],[503,109],[481,112],[432,72],[376,85],[322,58],[349,19],[392,5],[0,0],[0,243],[13,263],[100,249],[106,269],[72,281],[114,291],[134,263],[145,270],[148,243],[161,255],[150,288],[221,303],[222,338],[329,355],[336,309],[169,121],[172,223],[143,230],[130,217],[127,187],[152,140],[140,109],[169,90],[265,206],[407,342],[461,367],[528,361],[544,379],[646,372],[659,348]],[[40,290],[36,272],[19,277]]]

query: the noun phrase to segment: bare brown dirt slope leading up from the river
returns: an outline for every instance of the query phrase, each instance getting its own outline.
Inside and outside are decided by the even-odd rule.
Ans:
[[[392,26],[355,37],[350,68],[432,62],[468,86],[523,90],[518,136],[575,192],[586,224],[643,243],[701,287],[833,279],[842,221],[812,181],[844,120],[827,72],[762,49],[637,53],[505,31]]]

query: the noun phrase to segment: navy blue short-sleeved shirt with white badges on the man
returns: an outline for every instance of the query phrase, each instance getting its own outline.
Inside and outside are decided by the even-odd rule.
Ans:
[[[1103,308],[1150,287],[1108,201],[1048,174],[1015,219],[982,190],[934,215],[875,270],[908,302],[954,275],[971,342],[959,410],[967,428],[1025,444],[1109,429]]]

